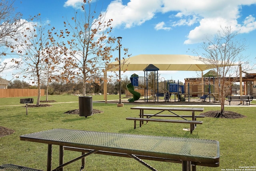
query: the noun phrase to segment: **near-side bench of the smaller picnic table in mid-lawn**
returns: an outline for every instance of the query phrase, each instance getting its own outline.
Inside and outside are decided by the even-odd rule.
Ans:
[[[153,122],[169,122],[169,123],[189,123],[190,133],[193,132],[194,124],[202,124],[202,121],[188,121],[188,120],[169,120],[169,119],[151,119],[141,117],[126,117],[127,120],[134,120],[134,129],[136,129],[136,121],[153,121]]]

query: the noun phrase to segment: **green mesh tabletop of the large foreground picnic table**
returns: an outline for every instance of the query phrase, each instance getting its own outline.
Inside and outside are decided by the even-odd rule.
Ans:
[[[51,129],[21,135],[20,140],[102,151],[192,161],[218,167],[219,142],[206,139]]]

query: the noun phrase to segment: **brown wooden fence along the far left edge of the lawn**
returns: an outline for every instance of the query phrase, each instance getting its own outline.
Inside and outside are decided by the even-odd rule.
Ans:
[[[37,96],[37,89],[0,89],[2,97],[32,97]],[[41,96],[44,96],[44,89],[41,89]]]

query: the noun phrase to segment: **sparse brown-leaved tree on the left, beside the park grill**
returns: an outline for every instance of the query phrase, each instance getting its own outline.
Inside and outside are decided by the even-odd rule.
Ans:
[[[54,70],[54,64],[58,64],[59,56],[58,43],[54,36],[54,27],[50,27],[47,22],[42,22],[40,14],[31,18],[30,22],[20,30],[19,34],[14,36],[14,43],[8,47],[12,49],[12,53],[16,53],[22,58],[23,77],[32,81],[38,87],[38,98],[36,105],[40,104],[40,88],[42,80],[45,78],[49,70]],[[49,77],[47,78],[49,81]]]

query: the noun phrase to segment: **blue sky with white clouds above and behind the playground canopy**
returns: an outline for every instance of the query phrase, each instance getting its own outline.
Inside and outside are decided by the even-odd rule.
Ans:
[[[240,30],[245,38],[251,65],[256,57],[256,0],[93,0],[97,9],[113,19],[112,36],[122,37],[122,46],[132,56],[139,54],[192,54],[191,50],[210,38],[220,26]],[[18,12],[26,19],[41,14],[56,29],[74,16],[80,0],[16,0]],[[189,50],[190,49],[190,50]],[[117,57],[118,53],[114,54]],[[126,72],[130,77],[134,72]],[[144,76],[143,72],[135,72]],[[166,80],[197,77],[196,72],[160,72]]]

